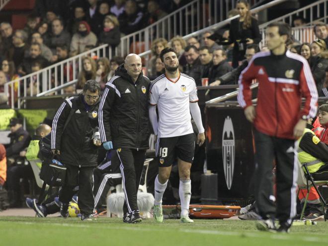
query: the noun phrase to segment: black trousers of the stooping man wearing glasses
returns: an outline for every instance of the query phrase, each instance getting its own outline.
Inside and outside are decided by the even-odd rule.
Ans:
[[[79,167],[66,164],[65,184],[59,192],[59,200],[69,203],[79,186],[78,205],[82,214],[92,214],[94,207],[93,197],[93,167]]]

